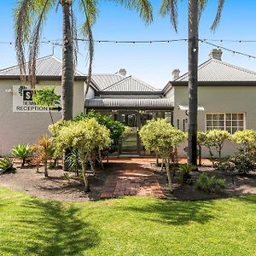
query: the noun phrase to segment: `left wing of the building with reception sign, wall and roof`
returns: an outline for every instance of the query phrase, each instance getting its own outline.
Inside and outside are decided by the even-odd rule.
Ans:
[[[61,94],[61,66],[61,60],[53,55],[38,59],[36,88],[51,85]],[[83,73],[75,72],[73,115],[84,112],[85,80]],[[61,113],[53,111],[53,118],[61,119]],[[10,154],[16,144],[32,144],[41,135],[49,134],[48,109],[38,108],[32,102],[31,86],[20,82],[17,66],[0,70],[0,120],[0,155]]]

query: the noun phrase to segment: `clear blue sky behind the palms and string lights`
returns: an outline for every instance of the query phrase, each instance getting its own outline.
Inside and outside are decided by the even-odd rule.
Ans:
[[[0,43],[14,42],[13,10],[15,0],[1,1],[0,16]],[[93,34],[96,40],[171,40],[187,38],[187,12],[186,0],[178,4],[178,32],[174,32],[170,18],[158,14],[160,1],[151,1],[154,8],[154,22],[145,26],[136,11],[125,9],[124,6],[113,3],[114,1],[98,1],[99,15]],[[209,0],[207,9],[201,16],[199,38],[218,40],[256,40],[256,1],[254,0],[226,0],[222,19],[215,33],[210,27],[218,8],[218,0]],[[81,25],[83,16],[75,9],[77,23]],[[61,39],[61,8],[53,10],[44,26],[42,40]],[[256,56],[256,43],[214,42],[228,49],[240,51]],[[172,80],[172,70],[179,68],[181,74],[187,72],[187,43],[153,44],[95,44],[95,58],[93,73],[116,73],[120,68],[125,68],[127,75],[163,88]],[[207,61],[213,47],[200,44],[199,63]],[[50,44],[41,44],[39,56],[52,54]],[[61,47],[55,47],[55,55],[61,58]],[[245,56],[230,53],[224,50],[223,61],[233,65],[256,71],[256,60]],[[16,65],[14,44],[1,44],[0,69]],[[88,58],[86,45],[79,44],[79,62],[77,69],[87,73]]]

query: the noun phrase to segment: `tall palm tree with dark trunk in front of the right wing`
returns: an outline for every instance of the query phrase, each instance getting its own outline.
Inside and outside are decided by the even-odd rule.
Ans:
[[[171,24],[177,32],[177,0],[163,0],[160,5],[160,14],[170,15]],[[198,68],[198,21],[200,20],[201,12],[207,5],[207,0],[188,0],[188,63],[189,63],[189,125],[188,125],[188,162],[189,164],[197,164],[197,68]],[[212,31],[218,26],[224,0],[218,0],[218,10],[215,19],[212,23]]]

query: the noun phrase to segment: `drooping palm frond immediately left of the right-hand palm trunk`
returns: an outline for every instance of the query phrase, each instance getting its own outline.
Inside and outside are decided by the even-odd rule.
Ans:
[[[163,0],[159,13],[162,16],[170,15],[171,24],[177,32],[177,0]]]

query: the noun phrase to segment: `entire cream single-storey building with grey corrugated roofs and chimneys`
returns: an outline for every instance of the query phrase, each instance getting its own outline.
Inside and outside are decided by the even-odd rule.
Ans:
[[[55,85],[61,93],[61,60],[47,56],[38,59],[36,67],[38,88]],[[172,75],[172,81],[159,90],[133,76],[126,76],[123,68],[118,73],[94,74],[84,96],[86,76],[76,71],[73,115],[91,109],[111,115],[132,130],[115,154],[149,154],[137,136],[137,131],[148,120],[166,118],[172,125],[187,131],[188,73],[180,75],[175,69]],[[198,79],[199,130],[223,129],[234,133],[256,129],[255,72],[225,63],[221,49],[212,49],[208,61],[198,67]],[[26,90],[29,91],[30,86],[20,82],[18,67],[0,70],[0,154],[9,154],[17,143],[34,143],[47,133],[49,113],[47,109],[37,108],[29,97],[26,101]],[[61,114],[56,111],[54,118],[60,119]],[[234,145],[229,143],[224,153],[230,154],[233,150]],[[180,154],[184,154],[183,150]]]

